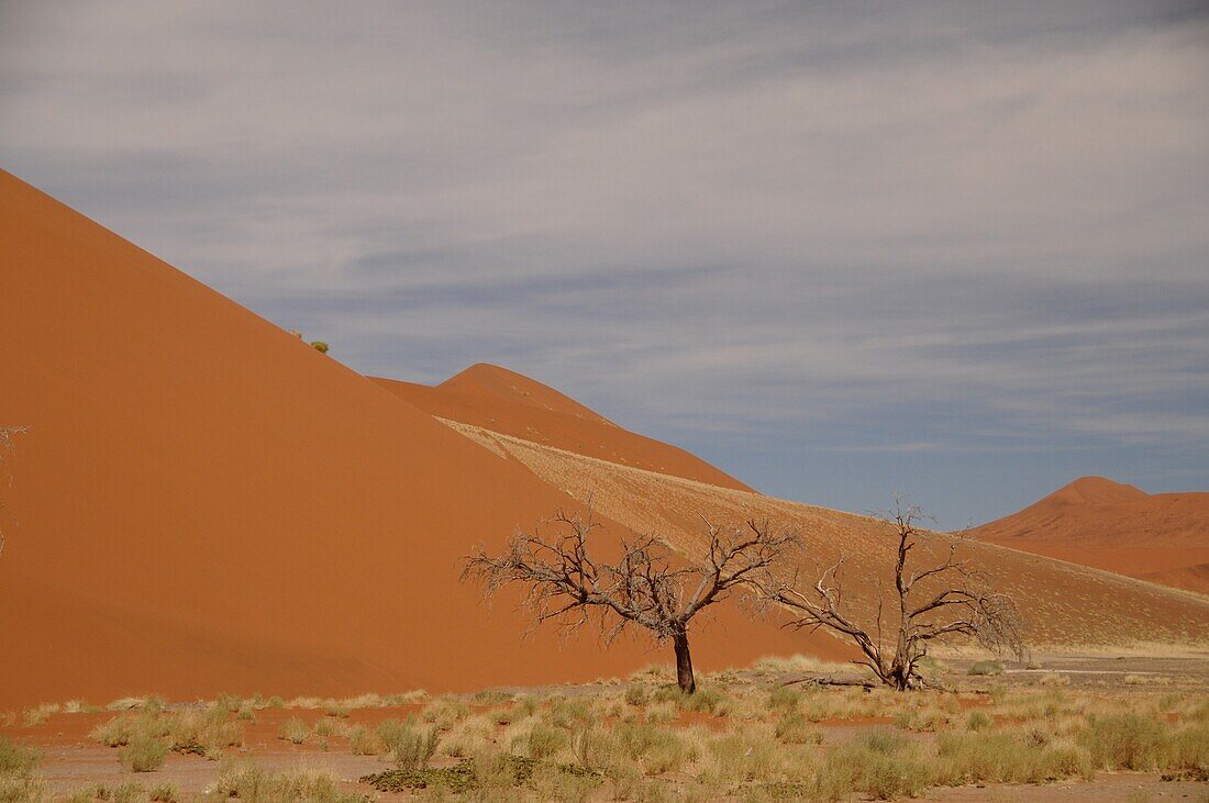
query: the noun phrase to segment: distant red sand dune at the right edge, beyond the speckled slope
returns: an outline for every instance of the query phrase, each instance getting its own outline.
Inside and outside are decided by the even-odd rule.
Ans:
[[[1209,594],[1209,493],[1152,495],[1083,477],[970,535]]]

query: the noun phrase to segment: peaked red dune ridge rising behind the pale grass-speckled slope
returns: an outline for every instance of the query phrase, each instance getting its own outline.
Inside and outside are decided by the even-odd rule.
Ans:
[[[438,418],[636,469],[751,490],[700,458],[624,430],[557,390],[507,368],[479,363],[435,388],[393,379],[375,382]]]

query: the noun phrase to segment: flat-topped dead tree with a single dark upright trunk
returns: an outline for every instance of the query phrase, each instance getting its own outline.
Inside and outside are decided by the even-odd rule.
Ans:
[[[480,548],[465,558],[462,578],[481,582],[488,597],[510,583],[525,586],[532,627],[557,619],[567,630],[578,630],[595,619],[606,644],[630,625],[646,628],[656,641],[670,639],[676,681],[692,694],[696,681],[689,622],[747,589],[797,541],[793,534],[754,522],[745,528],[705,526],[708,548],[700,559],[679,560],[664,540],[642,535],[623,540],[620,558],[608,563],[589,551],[592,531],[601,528],[591,510],[586,517],[560,510],[532,533],[517,530],[503,554],[492,557]]]

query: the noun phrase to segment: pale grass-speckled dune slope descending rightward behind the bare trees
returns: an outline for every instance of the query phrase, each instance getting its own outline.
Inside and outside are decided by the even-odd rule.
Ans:
[[[798,530],[806,543],[802,577],[846,557],[848,599],[872,621],[877,583],[892,589],[893,536],[875,519],[760,494],[722,489],[451,423],[501,454],[510,455],[569,495],[636,530],[654,530],[690,551],[700,546],[705,516],[717,522],[769,519]],[[947,551],[951,536],[929,539]],[[1035,648],[1109,647],[1146,642],[1204,646],[1209,599],[1128,577],[1075,566],[997,546],[967,541],[962,549],[1019,603]],[[916,553],[922,558],[924,553]]]

